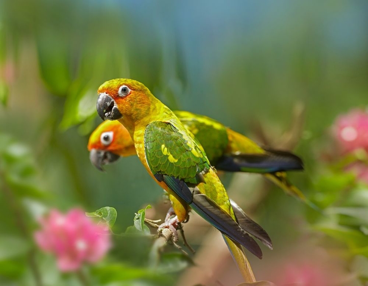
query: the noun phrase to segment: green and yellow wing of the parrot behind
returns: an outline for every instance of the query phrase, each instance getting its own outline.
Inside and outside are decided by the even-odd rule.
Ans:
[[[211,165],[215,165],[229,143],[226,127],[207,116],[187,111],[174,111],[174,113],[201,143]]]

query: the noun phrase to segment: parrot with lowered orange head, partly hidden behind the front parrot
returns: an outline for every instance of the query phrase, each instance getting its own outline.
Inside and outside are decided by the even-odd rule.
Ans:
[[[226,128],[207,116],[187,111],[173,111],[196,139],[217,170],[228,172],[261,173],[286,193],[309,205],[304,194],[288,179],[285,171],[303,170],[302,160],[286,151],[260,147],[246,136]],[[89,137],[88,150],[91,162],[100,170],[119,156],[136,155],[134,142],[128,130],[118,121],[104,121]]]

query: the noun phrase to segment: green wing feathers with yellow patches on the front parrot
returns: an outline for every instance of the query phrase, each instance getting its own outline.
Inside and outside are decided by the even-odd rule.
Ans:
[[[199,183],[199,174],[206,172],[210,163],[188,132],[174,124],[154,121],[146,127],[144,150],[148,165],[154,175]]]

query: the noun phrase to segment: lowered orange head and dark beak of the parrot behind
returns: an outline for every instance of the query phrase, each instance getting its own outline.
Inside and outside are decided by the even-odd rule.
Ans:
[[[119,121],[104,121],[88,140],[89,159],[99,170],[116,161],[120,156],[136,154],[134,142],[128,130]]]

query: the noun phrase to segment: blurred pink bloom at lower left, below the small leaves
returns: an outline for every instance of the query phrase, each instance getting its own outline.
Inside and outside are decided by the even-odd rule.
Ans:
[[[40,220],[41,230],[34,234],[38,246],[53,253],[61,271],[75,271],[83,262],[101,260],[111,247],[108,227],[96,224],[81,209],[62,214],[53,209]]]

